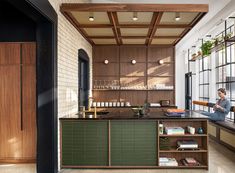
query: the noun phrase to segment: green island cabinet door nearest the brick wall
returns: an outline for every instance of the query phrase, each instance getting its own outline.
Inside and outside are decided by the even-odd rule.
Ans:
[[[108,122],[62,122],[62,166],[107,166]]]

